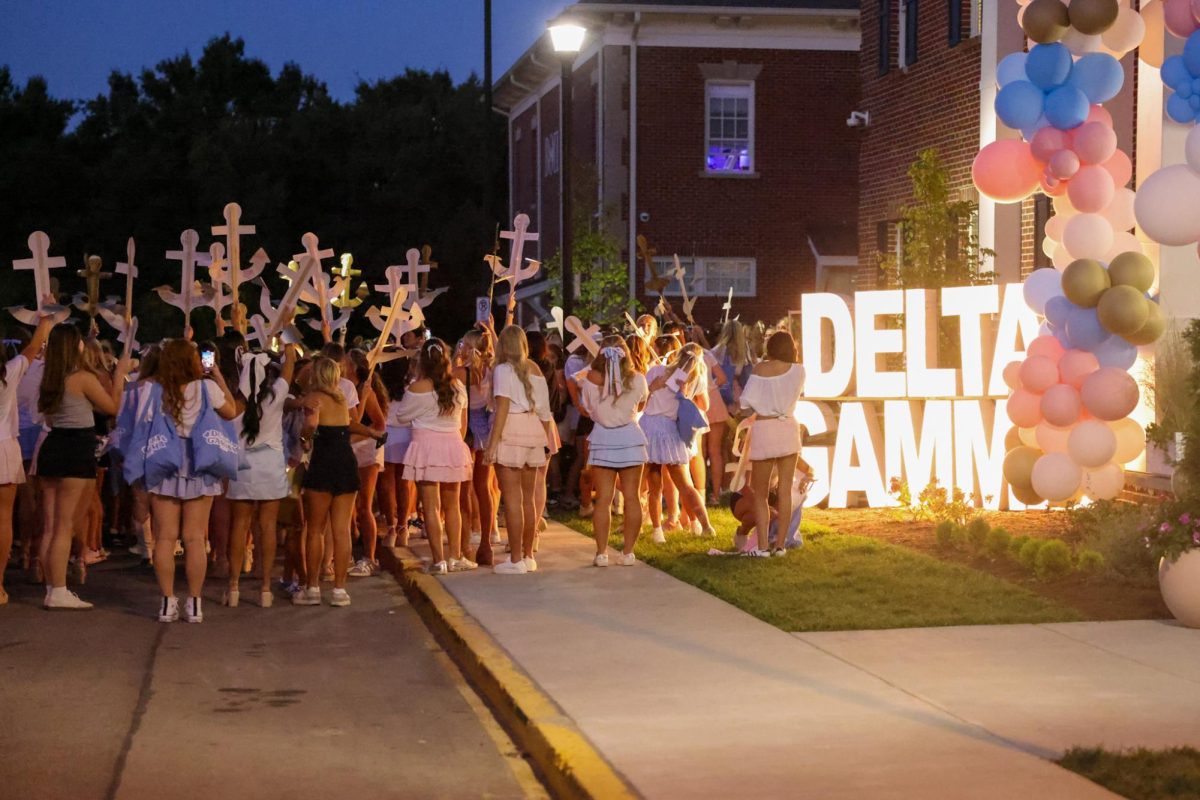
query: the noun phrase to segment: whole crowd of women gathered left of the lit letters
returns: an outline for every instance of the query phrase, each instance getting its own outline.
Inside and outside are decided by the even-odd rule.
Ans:
[[[490,566],[528,575],[547,505],[592,517],[596,567],[635,564],[643,522],[655,542],[712,535],[708,506],[725,499],[740,554],[794,543],[782,527],[769,539],[773,519],[793,517],[793,492],[776,489],[796,485],[800,449],[804,369],[786,326],[731,320],[709,345],[698,326],[643,315],[576,353],[511,324],[456,344],[419,329],[378,366],[335,342],[252,350],[232,329],[118,357],[94,332],[47,317],[5,341],[0,564],[12,552],[48,609],[91,608],[68,579],[84,584],[115,531],[152,565],[163,622],[204,619],[206,577],[232,607],[247,573],[262,607],[277,594],[322,604],[323,584],[330,606],[348,606],[349,578],[377,575],[380,546],[410,537],[427,539],[430,573],[476,570],[505,543],[502,519],[506,555]],[[731,494],[732,432],[748,416],[748,480]]]

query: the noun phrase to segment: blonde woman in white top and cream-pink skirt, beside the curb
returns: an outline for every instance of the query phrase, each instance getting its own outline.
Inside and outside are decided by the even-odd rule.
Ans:
[[[492,373],[496,420],[487,441],[487,462],[496,464],[504,497],[509,534],[508,561],[497,564],[498,575],[524,575],[538,569],[533,558],[538,534],[536,480],[550,451],[550,387],[538,365],[529,360],[524,331],[508,325],[496,344]]]

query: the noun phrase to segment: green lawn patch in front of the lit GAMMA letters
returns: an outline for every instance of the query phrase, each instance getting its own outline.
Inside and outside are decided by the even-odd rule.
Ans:
[[[785,631],[845,631],[998,622],[1062,622],[1072,608],[960,564],[906,547],[838,534],[805,523],[805,545],[787,558],[710,557],[731,549],[736,524],[725,509],[709,509],[714,539],[643,535],[640,559]],[[592,521],[556,518],[588,536]],[[614,521],[618,522],[618,521]],[[619,525],[611,540],[620,547]]]

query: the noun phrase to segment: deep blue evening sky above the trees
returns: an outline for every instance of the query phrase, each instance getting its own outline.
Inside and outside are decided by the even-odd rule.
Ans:
[[[41,74],[56,97],[107,91],[114,68],[137,74],[229,32],[272,72],[295,61],[350,100],[360,80],[404,67],[484,72],[482,0],[4,0],[0,65],[18,85]],[[493,0],[493,68],[504,73],[569,0]]]

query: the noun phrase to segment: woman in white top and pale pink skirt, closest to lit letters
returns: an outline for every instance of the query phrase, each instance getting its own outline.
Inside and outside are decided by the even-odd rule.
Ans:
[[[791,487],[796,461],[800,452],[800,426],[796,404],[804,391],[804,367],[796,363],[796,341],[787,331],[778,331],[767,341],[766,359],[755,366],[745,389],[742,408],[755,414],[750,428],[750,486],[755,494],[755,519],[758,547],[746,551],[750,557],[787,555],[780,540],[769,551],[772,476],[778,474],[780,487]],[[792,493],[779,492],[780,519],[792,518]]]

